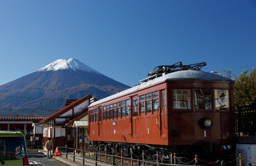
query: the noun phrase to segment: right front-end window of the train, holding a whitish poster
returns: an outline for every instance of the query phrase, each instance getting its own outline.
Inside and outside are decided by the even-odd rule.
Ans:
[[[215,89],[215,107],[216,109],[230,109],[228,90]]]

